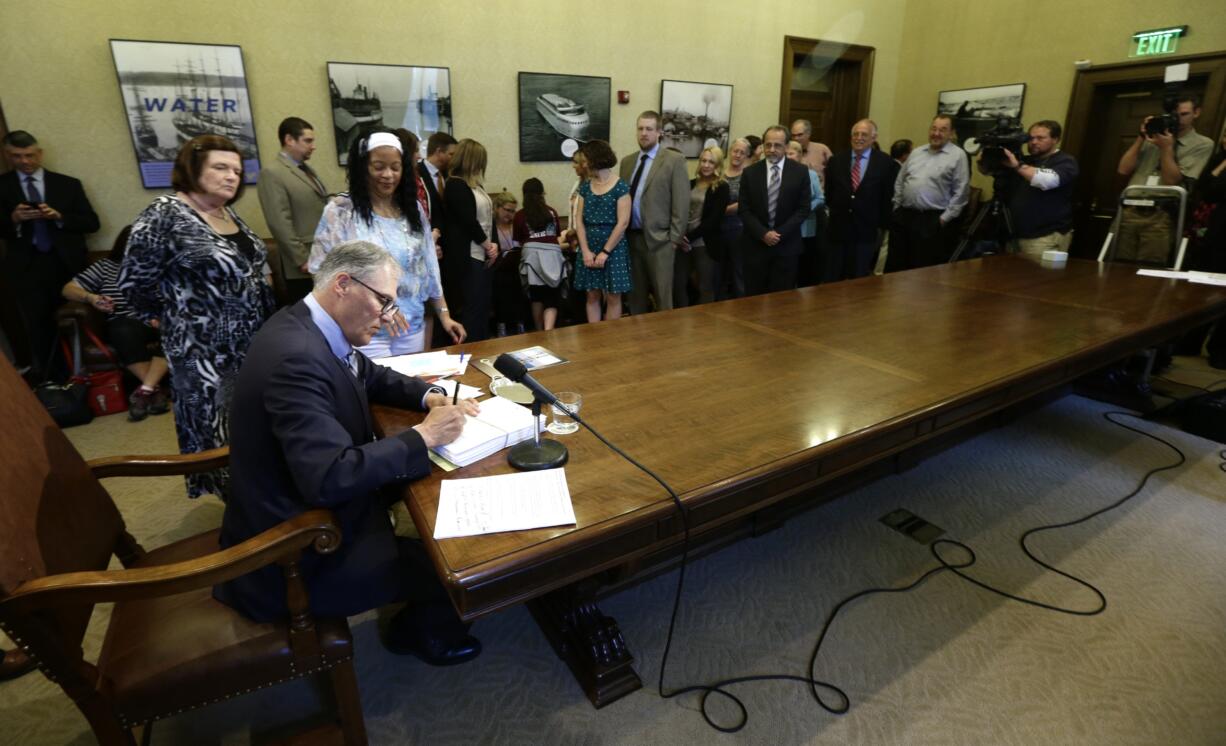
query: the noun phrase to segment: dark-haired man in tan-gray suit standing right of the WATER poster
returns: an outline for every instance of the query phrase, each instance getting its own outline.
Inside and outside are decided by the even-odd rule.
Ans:
[[[256,191],[264,220],[277,240],[272,271],[286,288],[286,303],[300,301],[311,290],[306,272],[315,227],[327,202],[327,189],[306,161],[315,152],[315,129],[305,119],[289,117],[277,128],[281,152],[260,172]]]

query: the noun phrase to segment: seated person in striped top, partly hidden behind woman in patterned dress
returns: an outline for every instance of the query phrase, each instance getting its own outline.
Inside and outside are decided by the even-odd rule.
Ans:
[[[61,292],[69,301],[85,303],[107,314],[107,341],[119,355],[119,362],[141,382],[128,398],[128,418],[139,422],[147,415],[170,411],[170,400],[161,386],[167,366],[157,321],[146,323],[136,318],[119,291],[119,263],[128,252],[131,232],[131,226],[124,226],[110,247],[110,254],[69,280]]]

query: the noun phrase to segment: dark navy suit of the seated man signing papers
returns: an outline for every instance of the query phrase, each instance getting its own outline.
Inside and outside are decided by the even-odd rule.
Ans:
[[[313,508],[329,508],[341,529],[331,555],[306,551],[302,569],[310,609],[349,616],[405,598],[400,561],[380,488],[430,470],[414,429],[374,439],[370,402],[421,410],[429,386],[358,355],[359,378],[332,355],[298,302],[256,333],[230,404],[234,491],[222,518],[222,547]],[[218,600],[256,621],[284,618],[278,566],[218,585]]]

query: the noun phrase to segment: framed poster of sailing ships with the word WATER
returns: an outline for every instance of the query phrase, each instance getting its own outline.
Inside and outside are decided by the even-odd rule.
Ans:
[[[255,183],[260,151],[239,47],[110,39],[110,54],[146,189],[169,186],[179,147],[200,135],[232,140],[243,180]]]

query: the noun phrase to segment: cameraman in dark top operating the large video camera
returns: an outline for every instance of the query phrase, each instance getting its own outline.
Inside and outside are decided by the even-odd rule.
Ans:
[[[1068,252],[1073,238],[1073,184],[1076,158],[1059,148],[1060,125],[1043,119],[1030,125],[1026,150],[984,147],[978,169],[997,177],[999,199],[1013,216],[1014,236],[1022,254],[1042,256],[1046,250]]]

